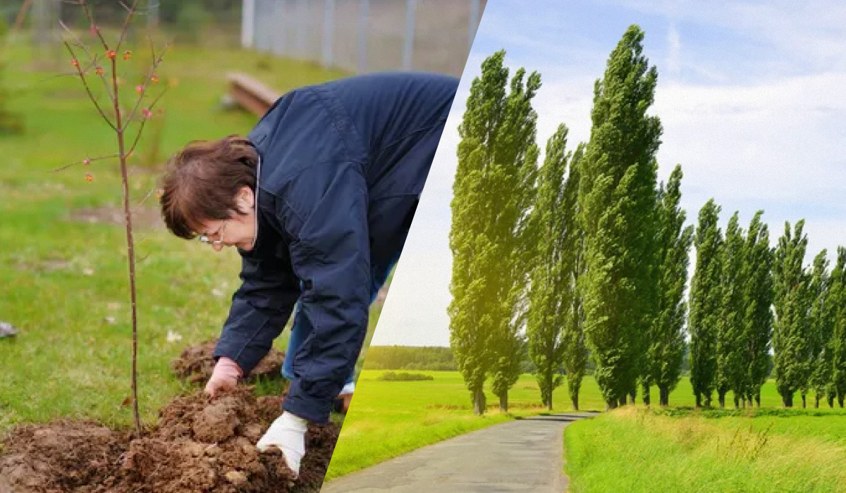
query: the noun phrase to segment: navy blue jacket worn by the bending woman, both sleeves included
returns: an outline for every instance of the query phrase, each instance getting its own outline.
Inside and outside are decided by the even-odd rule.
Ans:
[[[458,89],[436,74],[340,79],[282,96],[249,134],[261,156],[257,236],[239,250],[215,357],[245,374],[296,301],[314,331],[294,358],[283,409],[326,423],[365,340],[371,266],[396,259]]]

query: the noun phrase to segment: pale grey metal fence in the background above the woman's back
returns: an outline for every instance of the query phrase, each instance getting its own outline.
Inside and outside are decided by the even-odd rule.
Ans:
[[[244,0],[244,47],[350,72],[460,76],[487,0]]]

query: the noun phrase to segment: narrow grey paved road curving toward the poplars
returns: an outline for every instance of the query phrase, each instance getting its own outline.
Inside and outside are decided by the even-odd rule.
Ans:
[[[563,430],[596,414],[517,419],[460,435],[348,474],[321,493],[563,493]]]

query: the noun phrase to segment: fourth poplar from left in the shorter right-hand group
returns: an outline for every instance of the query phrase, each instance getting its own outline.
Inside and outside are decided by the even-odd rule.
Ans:
[[[778,238],[773,262],[776,323],[772,334],[776,388],[785,408],[793,407],[794,393],[810,376],[810,277],[805,271],[808,237],[802,233],[805,221],[790,223]]]

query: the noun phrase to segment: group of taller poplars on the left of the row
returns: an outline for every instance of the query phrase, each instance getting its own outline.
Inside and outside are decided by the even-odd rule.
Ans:
[[[568,376],[579,390],[589,355],[609,408],[658,386],[662,403],[684,358],[684,284],[692,231],[677,167],[657,184],[662,133],[646,114],[657,72],[629,27],[596,81],[591,139],[567,150],[560,125],[538,167],[537,73],[508,80],[504,52],[474,79],[459,126],[453,185],[450,343],[476,413],[488,377],[500,407],[527,347],[541,398]],[[523,329],[525,328],[525,338]],[[648,399],[648,397],[647,397]]]

